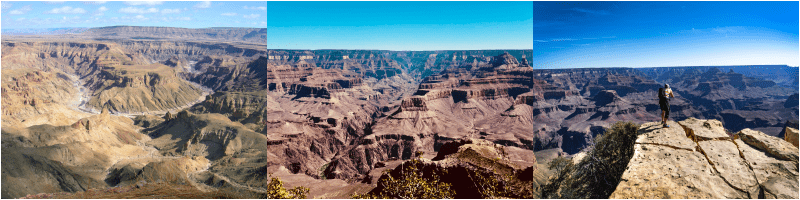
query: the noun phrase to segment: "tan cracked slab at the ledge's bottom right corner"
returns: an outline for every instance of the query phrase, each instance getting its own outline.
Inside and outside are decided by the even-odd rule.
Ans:
[[[764,186],[766,198],[797,199],[797,163],[777,159],[763,150],[753,148],[737,139],[739,150],[753,167],[758,182]]]

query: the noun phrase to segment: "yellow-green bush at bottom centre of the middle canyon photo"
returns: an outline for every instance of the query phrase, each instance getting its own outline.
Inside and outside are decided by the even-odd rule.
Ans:
[[[439,180],[436,174],[432,178],[423,178],[424,171],[418,165],[421,161],[413,159],[403,164],[400,177],[393,177],[387,170],[387,178],[381,179],[378,185],[383,186],[380,191],[366,194],[353,194],[354,199],[452,199],[455,192],[449,183]]]

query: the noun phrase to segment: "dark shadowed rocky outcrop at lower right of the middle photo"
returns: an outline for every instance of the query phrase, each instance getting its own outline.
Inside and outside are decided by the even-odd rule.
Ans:
[[[528,153],[533,154],[530,151]],[[439,181],[451,184],[455,198],[532,198],[535,158],[517,162],[510,159],[509,155],[506,147],[486,140],[465,139],[446,143],[433,160],[406,161],[383,174],[377,181],[378,186],[370,193],[378,194],[387,189],[381,179],[389,176],[400,178],[402,170],[408,167],[406,165],[415,165],[424,178],[436,175]],[[510,196],[490,196],[497,194]]]

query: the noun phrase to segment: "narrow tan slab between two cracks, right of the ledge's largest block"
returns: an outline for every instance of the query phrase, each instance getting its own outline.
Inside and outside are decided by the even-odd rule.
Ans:
[[[750,193],[751,198],[757,198],[758,182],[747,163],[739,155],[739,149],[732,141],[708,140],[698,142],[719,175],[727,180],[731,186]]]

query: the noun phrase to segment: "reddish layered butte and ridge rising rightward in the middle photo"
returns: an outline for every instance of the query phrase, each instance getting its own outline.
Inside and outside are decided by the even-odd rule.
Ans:
[[[520,67],[509,54],[491,60],[425,78],[414,95],[375,122],[371,134],[334,157],[326,174],[360,177],[379,161],[409,159],[416,151],[433,154],[460,138],[532,149],[531,68]]]

